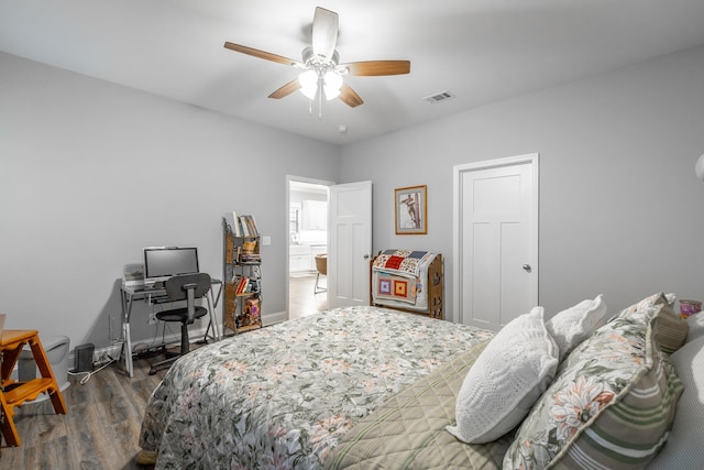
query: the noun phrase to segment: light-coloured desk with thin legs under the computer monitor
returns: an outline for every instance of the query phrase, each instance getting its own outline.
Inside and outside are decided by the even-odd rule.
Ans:
[[[212,286],[218,286],[218,294],[213,293]],[[208,311],[210,314],[210,323],[208,325],[208,329],[206,329],[206,337],[208,336],[208,330],[212,326],[212,336],[216,341],[220,341],[221,335],[218,329],[218,318],[216,314],[216,308],[218,307],[218,300],[220,299],[220,294],[222,293],[222,281],[220,280],[211,280],[210,281],[210,295],[207,294],[204,296],[208,300]],[[165,303],[168,302],[168,296],[166,295],[165,288],[134,288],[132,286],[120,286],[120,297],[122,304],[122,351],[121,356],[124,356],[124,368],[130,376],[134,376],[134,367],[132,364],[132,336],[130,334],[130,320],[132,317],[132,305],[134,300],[146,300],[147,304],[153,305],[156,303]],[[177,300],[183,302],[183,300]]]

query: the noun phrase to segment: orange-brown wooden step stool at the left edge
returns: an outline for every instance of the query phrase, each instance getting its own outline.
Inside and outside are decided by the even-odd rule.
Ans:
[[[36,367],[42,374],[38,379],[19,382],[10,379],[12,369],[20,358],[24,345],[30,345]],[[19,446],[20,436],[14,427],[14,407],[22,406],[26,401],[35,400],[41,393],[47,392],[56,414],[66,414],[66,404],[54,378],[54,372],[46,359],[46,353],[36,330],[4,330],[0,337],[0,354],[2,368],[0,382],[0,402],[2,404],[2,436],[8,446]]]

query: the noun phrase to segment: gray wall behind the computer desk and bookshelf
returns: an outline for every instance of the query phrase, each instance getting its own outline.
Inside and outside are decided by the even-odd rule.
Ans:
[[[221,277],[231,210],[272,237],[263,314],[285,310],[286,175],[334,181],[337,146],[8,54],[0,70],[7,328],[107,347],[123,265],[146,245],[196,245],[201,270]],[[151,339],[143,304],[135,314],[133,338]]]

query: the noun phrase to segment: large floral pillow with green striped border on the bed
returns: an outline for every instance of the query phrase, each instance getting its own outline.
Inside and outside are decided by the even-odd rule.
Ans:
[[[659,308],[659,306],[647,307]],[[660,450],[683,386],[650,324],[616,318],[560,365],[524,420],[505,469],[640,469]]]

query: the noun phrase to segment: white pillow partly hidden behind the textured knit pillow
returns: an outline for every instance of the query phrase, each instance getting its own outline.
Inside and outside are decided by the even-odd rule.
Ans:
[[[604,324],[606,324],[606,304],[604,296],[600,294],[594,300],[582,300],[574,307],[560,311],[546,321],[546,328],[558,343],[560,362],[562,362],[574,348]]]

